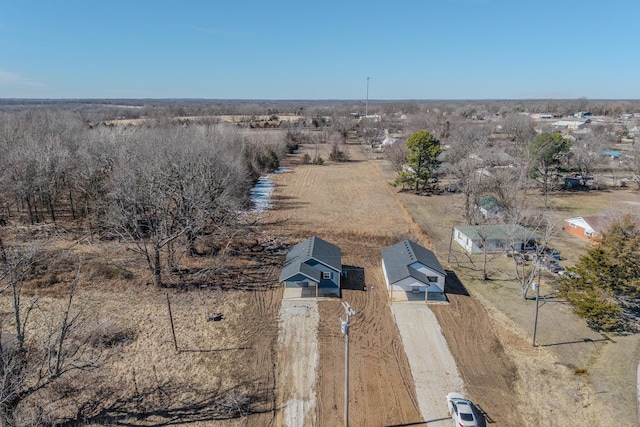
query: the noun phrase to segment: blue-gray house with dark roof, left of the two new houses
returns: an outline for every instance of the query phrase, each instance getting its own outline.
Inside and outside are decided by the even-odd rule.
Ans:
[[[287,253],[280,282],[300,288],[301,296],[340,297],[342,252],[319,237],[310,237]]]

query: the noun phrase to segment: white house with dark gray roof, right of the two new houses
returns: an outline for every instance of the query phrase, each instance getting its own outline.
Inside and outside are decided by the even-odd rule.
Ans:
[[[417,299],[412,294],[425,300],[444,299],[447,273],[433,252],[411,240],[382,250],[382,271],[392,300],[395,291],[406,293],[410,300]]]

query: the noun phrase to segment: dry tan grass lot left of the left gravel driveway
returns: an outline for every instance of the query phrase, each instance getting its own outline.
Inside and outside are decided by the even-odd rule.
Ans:
[[[84,333],[93,337],[89,350],[101,357],[97,369],[60,377],[54,387],[28,399],[21,413],[33,418],[22,419],[22,425],[36,425],[35,405],[63,421],[56,425],[275,425],[282,292],[271,285],[277,282],[281,256],[229,256],[223,273],[236,271],[241,287],[221,279],[189,290],[159,289],[142,260],[119,244],[53,237],[53,246],[45,250],[73,248],[83,260],[72,313],[82,309]],[[193,261],[206,262],[211,259]],[[71,271],[58,272],[55,283],[26,283],[23,300],[38,298],[28,340],[37,341],[51,324],[40,309],[64,303],[75,260],[68,263]],[[117,273],[122,271],[128,274]],[[3,332],[10,333],[6,292],[0,310]]]

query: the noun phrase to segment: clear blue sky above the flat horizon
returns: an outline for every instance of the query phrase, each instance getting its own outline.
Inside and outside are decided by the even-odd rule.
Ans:
[[[0,0],[0,98],[640,98],[638,0]]]

